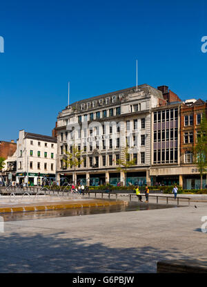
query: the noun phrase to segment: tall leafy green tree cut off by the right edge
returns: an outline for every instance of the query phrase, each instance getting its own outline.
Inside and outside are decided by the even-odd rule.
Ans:
[[[201,189],[203,188],[203,175],[207,169],[207,120],[206,113],[203,112],[200,129],[197,136],[197,145],[194,148],[195,164],[201,177]]]

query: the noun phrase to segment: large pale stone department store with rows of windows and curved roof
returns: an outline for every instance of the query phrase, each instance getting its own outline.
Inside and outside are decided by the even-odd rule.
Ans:
[[[129,183],[150,185],[151,109],[163,95],[158,89],[141,86],[115,91],[70,104],[57,116],[57,181],[101,185]],[[135,165],[118,171],[128,144]],[[68,167],[63,158],[75,145],[83,162]]]

